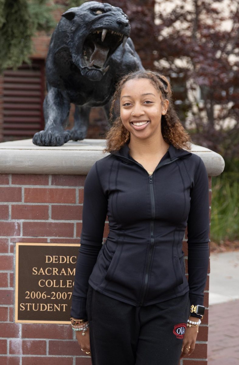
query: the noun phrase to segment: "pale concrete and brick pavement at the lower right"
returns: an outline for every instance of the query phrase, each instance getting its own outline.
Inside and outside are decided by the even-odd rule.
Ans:
[[[212,253],[208,365],[239,365],[239,251]]]

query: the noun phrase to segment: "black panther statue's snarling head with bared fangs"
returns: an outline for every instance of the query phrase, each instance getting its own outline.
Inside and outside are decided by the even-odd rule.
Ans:
[[[108,3],[89,1],[70,8],[60,23],[68,35],[73,63],[83,76],[95,81],[108,71],[111,55],[130,35],[127,15]]]

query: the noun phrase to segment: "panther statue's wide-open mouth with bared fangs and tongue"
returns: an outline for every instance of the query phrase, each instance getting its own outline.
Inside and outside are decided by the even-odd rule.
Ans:
[[[109,65],[105,64],[112,53],[123,43],[128,36],[109,29],[97,29],[91,32],[85,39],[82,49],[83,67],[107,72]]]

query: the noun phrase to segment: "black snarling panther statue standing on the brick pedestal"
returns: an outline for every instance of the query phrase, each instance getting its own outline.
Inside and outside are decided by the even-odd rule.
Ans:
[[[35,133],[38,146],[61,146],[87,134],[91,107],[108,115],[114,85],[123,74],[143,69],[122,9],[90,1],[68,9],[52,35],[46,59],[45,130]],[[74,127],[65,131],[70,103]]]

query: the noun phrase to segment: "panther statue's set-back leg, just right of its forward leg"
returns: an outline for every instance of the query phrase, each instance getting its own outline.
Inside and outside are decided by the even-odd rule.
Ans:
[[[69,131],[70,139],[73,141],[82,140],[86,137],[89,126],[90,107],[76,105],[74,112],[74,127]]]

